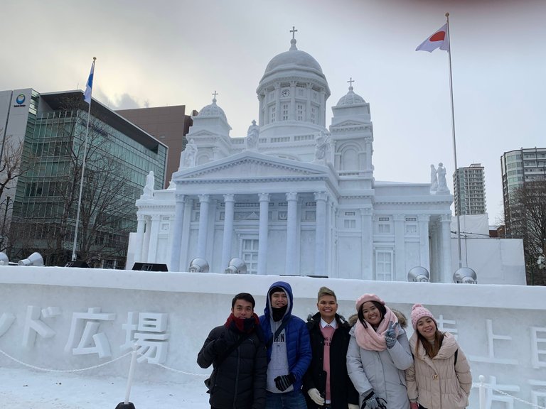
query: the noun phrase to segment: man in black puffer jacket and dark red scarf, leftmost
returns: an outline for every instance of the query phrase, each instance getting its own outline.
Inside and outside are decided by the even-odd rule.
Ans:
[[[199,351],[198,365],[214,368],[208,400],[211,409],[264,408],[267,353],[255,305],[252,295],[235,295],[230,317],[210,331]]]

